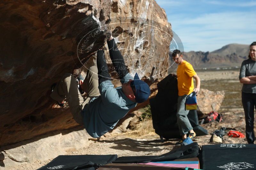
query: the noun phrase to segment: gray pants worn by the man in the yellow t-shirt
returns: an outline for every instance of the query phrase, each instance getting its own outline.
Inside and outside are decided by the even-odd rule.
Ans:
[[[188,95],[178,97],[177,124],[179,126],[180,135],[187,134],[190,130],[193,129],[188,120],[189,110],[185,110],[185,102],[187,96]]]

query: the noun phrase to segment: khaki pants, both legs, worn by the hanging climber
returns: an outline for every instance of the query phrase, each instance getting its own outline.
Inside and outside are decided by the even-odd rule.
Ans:
[[[66,73],[51,94],[51,97],[58,102],[66,98],[72,116],[78,124],[84,124],[81,113],[84,106],[89,103],[91,98],[100,96],[98,69],[96,66],[92,66],[87,70],[82,86],[87,93],[86,98],[81,95],[75,77],[72,74]]]

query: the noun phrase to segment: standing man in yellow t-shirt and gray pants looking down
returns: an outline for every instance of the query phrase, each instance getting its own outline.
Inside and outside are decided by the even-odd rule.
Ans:
[[[185,110],[185,101],[187,96],[192,93],[198,93],[200,90],[200,78],[196,74],[194,68],[190,63],[183,60],[183,55],[180,50],[172,52],[172,60],[178,64],[177,79],[178,79],[178,108],[177,108],[177,124],[179,126],[180,135],[182,139],[176,144],[181,144],[186,138],[194,138],[196,133],[193,131],[188,120],[189,110]],[[194,88],[194,81],[196,80],[196,88]],[[188,135],[187,135],[188,134]]]

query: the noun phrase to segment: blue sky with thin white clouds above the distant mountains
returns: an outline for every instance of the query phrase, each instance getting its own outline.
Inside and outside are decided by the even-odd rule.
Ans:
[[[184,51],[214,51],[256,41],[256,1],[156,0]]]

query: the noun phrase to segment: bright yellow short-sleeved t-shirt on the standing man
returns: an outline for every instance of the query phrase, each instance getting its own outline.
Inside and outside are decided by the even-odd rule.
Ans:
[[[177,77],[178,77],[178,90],[179,96],[189,95],[194,90],[194,81],[193,76],[196,75],[196,72],[193,66],[187,61],[183,60],[177,68]]]

